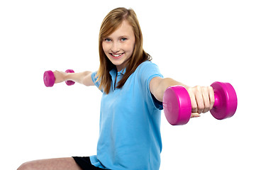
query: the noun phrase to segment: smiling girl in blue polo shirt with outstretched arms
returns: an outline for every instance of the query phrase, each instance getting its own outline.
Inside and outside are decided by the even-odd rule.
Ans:
[[[191,97],[192,115],[213,108],[213,89],[189,87],[163,78],[143,50],[143,35],[132,9],[113,9],[101,24],[97,72],[55,71],[55,83],[77,81],[102,91],[97,155],[44,159],[18,169],[140,169],[160,168],[160,116],[168,86],[183,85]]]

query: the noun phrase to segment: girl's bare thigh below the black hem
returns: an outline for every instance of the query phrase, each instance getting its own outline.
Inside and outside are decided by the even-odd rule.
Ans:
[[[18,170],[82,170],[72,157],[42,159],[22,164]]]

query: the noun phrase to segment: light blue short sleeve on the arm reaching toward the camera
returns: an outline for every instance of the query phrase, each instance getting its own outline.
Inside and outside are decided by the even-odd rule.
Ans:
[[[153,103],[153,105],[155,106],[155,108],[162,110],[162,102],[157,101],[157,99],[155,98],[155,96],[153,96],[150,92],[150,81],[154,78],[154,77],[162,77],[162,74],[160,73],[160,69],[159,67],[152,63],[152,62],[143,62],[142,64],[140,64],[139,66],[140,70],[140,82],[141,82],[141,86],[143,87],[143,91],[145,93],[145,96],[148,96],[148,103]]]

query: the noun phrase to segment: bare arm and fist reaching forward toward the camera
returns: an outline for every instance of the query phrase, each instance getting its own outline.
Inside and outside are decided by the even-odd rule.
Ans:
[[[167,87],[176,85],[184,86],[189,93],[192,106],[191,117],[199,117],[200,113],[206,113],[213,108],[214,93],[211,86],[190,87],[171,78],[155,77],[150,81],[150,92],[162,102]]]

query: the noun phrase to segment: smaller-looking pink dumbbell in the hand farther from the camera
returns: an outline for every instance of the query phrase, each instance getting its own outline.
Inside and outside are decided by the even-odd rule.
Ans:
[[[66,70],[66,73],[73,73],[73,72],[74,72],[73,69]],[[55,76],[52,71],[49,70],[43,74],[43,82],[47,87],[51,87],[55,84]],[[68,80],[68,81],[65,81],[65,83],[67,84],[67,86],[71,86],[74,84],[74,81]]]

